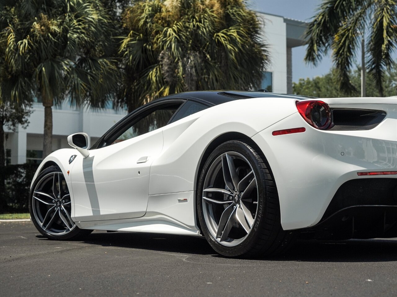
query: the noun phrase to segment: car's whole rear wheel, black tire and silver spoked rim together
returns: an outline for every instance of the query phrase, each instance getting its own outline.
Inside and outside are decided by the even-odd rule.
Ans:
[[[276,183],[259,148],[227,141],[208,157],[197,191],[204,236],[221,255],[255,257],[284,251]]]

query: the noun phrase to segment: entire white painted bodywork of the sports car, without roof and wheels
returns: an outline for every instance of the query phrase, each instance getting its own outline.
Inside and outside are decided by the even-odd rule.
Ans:
[[[198,235],[195,191],[202,156],[214,139],[237,132],[252,138],[270,164],[283,229],[309,227],[320,221],[336,190],[358,178],[357,172],[397,171],[396,98],[322,100],[330,107],[384,110],[387,116],[371,130],[322,131],[303,120],[296,99],[243,99],[90,150],[89,166],[74,149],[56,151],[42,165],[53,161],[64,172],[73,191],[72,218],[78,227]],[[306,131],[272,135],[275,130],[299,127]],[[77,158],[68,165],[72,154]],[[150,159],[136,164],[142,156]]]

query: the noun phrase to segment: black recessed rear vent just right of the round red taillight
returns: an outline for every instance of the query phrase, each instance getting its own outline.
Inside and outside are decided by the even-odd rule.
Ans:
[[[385,118],[383,110],[331,109],[333,126],[330,130],[370,130]]]

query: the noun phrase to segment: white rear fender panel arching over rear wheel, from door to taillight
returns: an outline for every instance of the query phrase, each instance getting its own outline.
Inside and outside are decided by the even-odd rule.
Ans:
[[[297,112],[295,100],[286,100],[293,104],[285,105],[284,99],[252,98],[211,107],[183,119],[200,116],[179,137],[173,133],[179,121],[164,127],[164,149],[152,164],[149,194],[196,190],[198,165],[208,145],[227,132],[252,137],[274,122]]]

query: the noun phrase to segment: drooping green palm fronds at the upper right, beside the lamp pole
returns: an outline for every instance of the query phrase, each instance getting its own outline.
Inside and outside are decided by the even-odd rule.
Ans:
[[[382,76],[393,65],[392,53],[397,49],[396,0],[323,0],[306,32],[304,59],[316,65],[331,49],[339,87],[354,90],[349,73],[361,35],[368,36],[366,68],[383,96]]]

